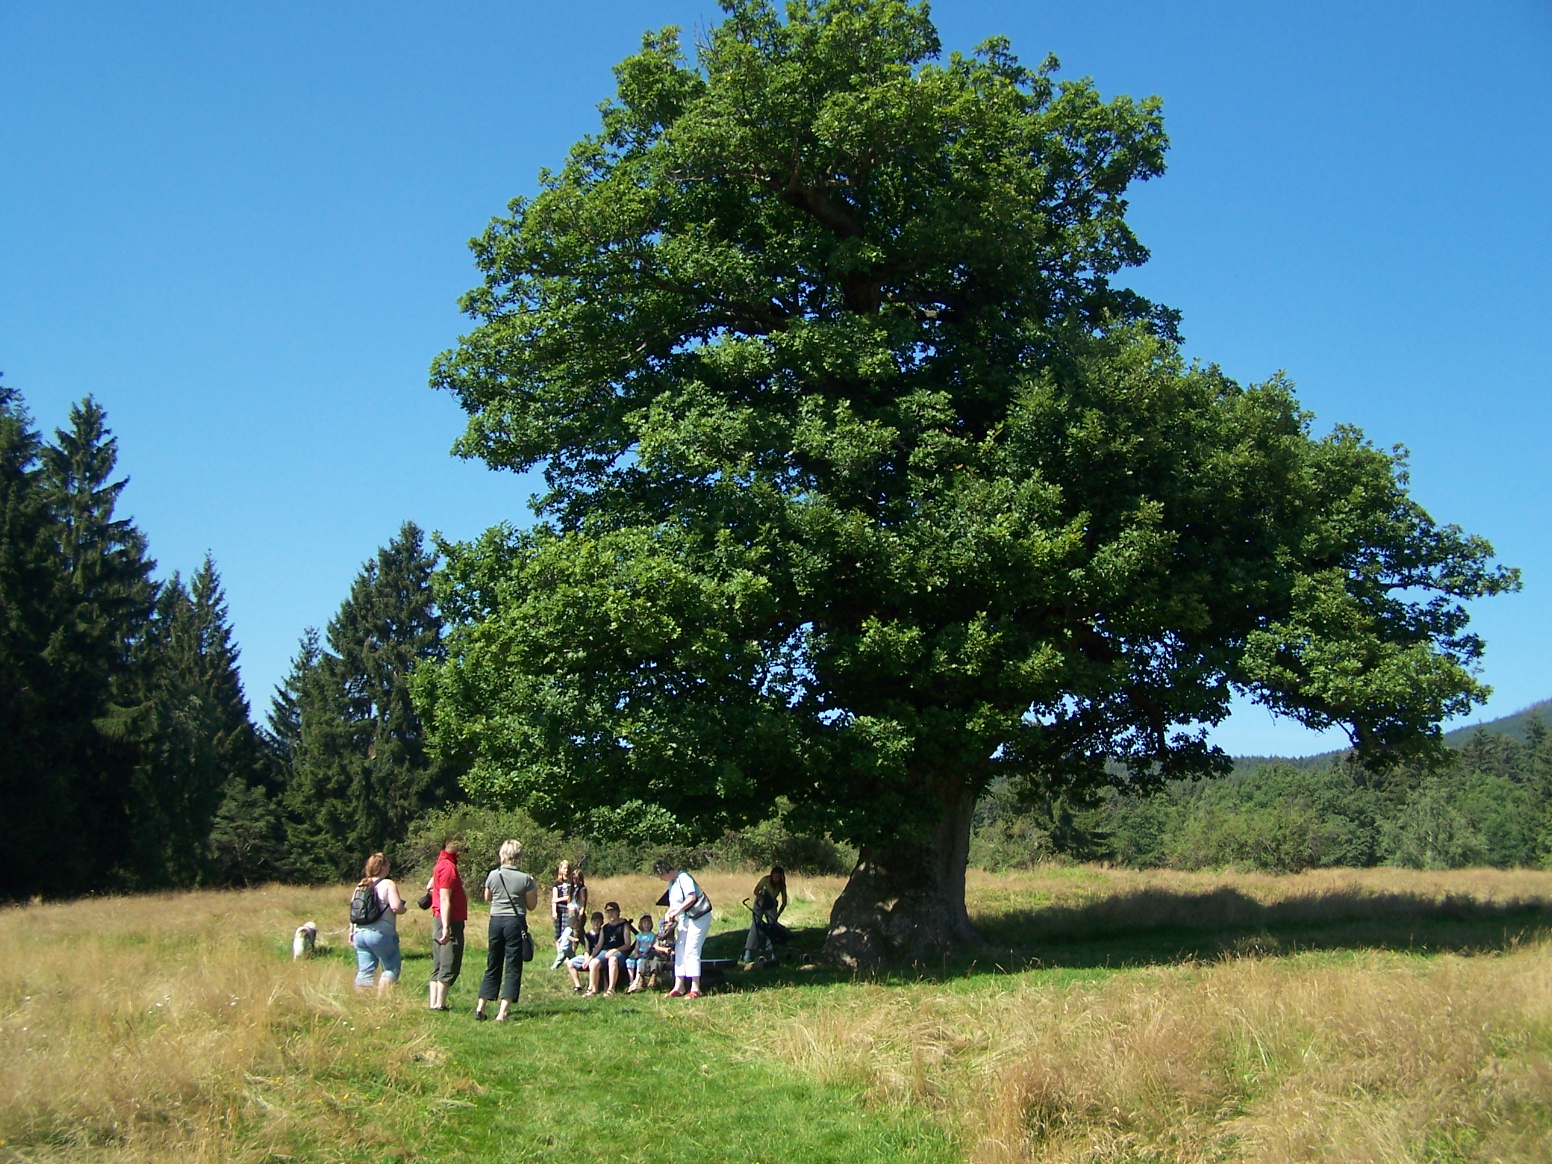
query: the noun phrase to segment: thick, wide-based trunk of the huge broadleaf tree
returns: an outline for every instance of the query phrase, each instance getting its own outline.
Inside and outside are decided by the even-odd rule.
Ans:
[[[925,840],[864,846],[830,909],[824,956],[849,967],[941,959],[979,939],[965,911],[975,792],[942,790],[942,816]]]

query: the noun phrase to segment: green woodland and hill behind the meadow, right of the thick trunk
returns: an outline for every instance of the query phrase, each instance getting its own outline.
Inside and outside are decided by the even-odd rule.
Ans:
[[[1367,771],[1346,751],[1240,756],[1215,781],[1086,798],[993,787],[972,863],[1110,860],[1175,869],[1552,868],[1552,700],[1445,736],[1443,756]]]

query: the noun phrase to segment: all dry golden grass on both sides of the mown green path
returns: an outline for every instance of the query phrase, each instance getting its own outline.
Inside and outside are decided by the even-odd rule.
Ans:
[[[719,931],[739,927],[751,880],[702,877]],[[823,923],[840,886],[795,880],[788,919]],[[660,891],[632,877],[599,880],[591,897],[658,916]],[[1270,958],[1257,951],[1277,942],[1257,939],[1243,956],[1229,944],[1207,961],[1040,968],[1069,931],[1099,934],[1103,953],[1103,934],[1156,925],[1546,911],[1552,874],[1076,868],[973,874],[970,899],[996,936],[1037,936],[1024,950],[1037,968],[751,990],[675,1015],[717,1046],[922,1105],[981,1164],[1552,1159],[1552,947],[1535,936],[1470,956],[1336,944]],[[421,1017],[424,961],[379,998],[359,995],[338,958],[289,959],[307,919],[340,947],[329,931],[345,900],[340,888],[272,888],[0,911],[0,1159],[424,1156],[428,1113],[478,1100],[481,1065],[438,1041],[459,1027]],[[425,925],[414,909],[402,920],[411,958]],[[476,920],[459,1003],[481,945]],[[574,1006],[560,975],[532,986],[540,1006]],[[596,1023],[599,1037],[632,1037],[605,1010]]]

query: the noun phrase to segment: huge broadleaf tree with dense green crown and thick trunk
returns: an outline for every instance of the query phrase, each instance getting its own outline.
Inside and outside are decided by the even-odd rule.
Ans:
[[[1490,546],[1113,284],[1156,101],[944,59],[920,3],[723,6],[473,244],[433,380],[461,453],[549,489],[449,548],[417,691],[470,792],[708,833],[788,796],[860,846],[832,953],[925,954],[973,937],[999,776],[1220,770],[1235,691],[1375,760],[1484,697]]]

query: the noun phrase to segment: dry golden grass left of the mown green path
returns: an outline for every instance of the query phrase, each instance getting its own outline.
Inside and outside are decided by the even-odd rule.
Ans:
[[[360,1110],[472,1085],[428,1069],[436,1048],[396,1021],[422,998],[359,996],[338,961],[289,961],[292,928],[341,914],[340,889],[284,888],[0,913],[0,1141],[20,1159],[400,1148],[404,1128]]]

